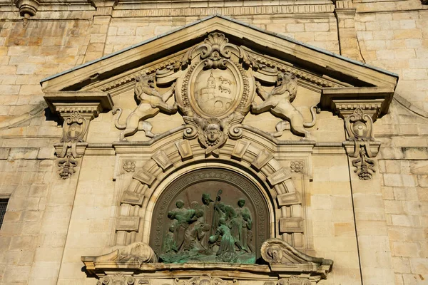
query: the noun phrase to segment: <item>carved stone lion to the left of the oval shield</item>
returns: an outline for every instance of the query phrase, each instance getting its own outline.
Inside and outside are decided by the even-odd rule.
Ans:
[[[135,110],[126,118],[126,124],[121,125],[119,118],[122,114],[121,108],[113,110],[113,115],[119,113],[116,118],[116,128],[123,130],[119,140],[126,140],[126,136],[135,134],[138,130],[144,130],[148,138],[153,138],[155,134],[151,132],[152,125],[146,120],[152,118],[162,110],[164,113],[173,114],[177,112],[177,103],[169,105],[166,101],[175,93],[175,83],[171,86],[170,90],[161,95],[154,86],[154,75],[140,76],[136,80],[136,97],[140,100],[140,104]]]

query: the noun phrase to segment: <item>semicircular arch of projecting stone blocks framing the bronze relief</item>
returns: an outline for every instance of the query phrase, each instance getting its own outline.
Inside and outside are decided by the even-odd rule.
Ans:
[[[286,229],[284,224],[290,219],[297,224],[302,223],[302,198],[295,190],[290,171],[282,167],[267,149],[245,138],[228,140],[218,157],[207,158],[198,140],[163,143],[151,159],[136,171],[133,180],[121,194],[121,207],[130,209],[119,211],[121,215],[116,222],[116,233],[122,234],[123,238],[116,244],[149,243],[156,200],[167,188],[168,182],[173,182],[174,173],[212,165],[224,169],[235,167],[241,175],[253,177],[260,190],[265,191],[270,212],[270,238],[281,238],[292,244],[293,234],[302,234],[302,230]]]

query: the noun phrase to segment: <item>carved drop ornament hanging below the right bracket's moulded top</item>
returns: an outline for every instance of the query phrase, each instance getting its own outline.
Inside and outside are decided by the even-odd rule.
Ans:
[[[352,165],[355,167],[354,172],[357,173],[360,180],[370,180],[374,170],[374,157],[370,150],[370,142],[373,137],[373,121],[370,115],[364,113],[361,108],[355,109],[354,113],[345,119],[345,128],[349,135],[348,140],[355,143],[354,153],[350,157],[357,157],[352,160]]]

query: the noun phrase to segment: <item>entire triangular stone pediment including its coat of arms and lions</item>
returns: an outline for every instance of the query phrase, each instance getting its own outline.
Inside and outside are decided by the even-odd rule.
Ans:
[[[210,78],[215,79],[212,90],[208,86]],[[200,128],[199,133],[214,124],[225,134],[226,125],[242,123],[249,112],[260,114],[270,110],[284,120],[276,126],[277,133],[270,135],[280,137],[282,130],[290,130],[288,120],[295,134],[310,138],[304,128],[315,125],[315,110],[331,110],[345,118],[356,108],[362,108],[372,120],[386,114],[397,81],[396,74],[380,68],[224,16],[210,16],[45,78],[41,85],[52,110],[56,110],[54,102],[88,104],[95,93],[108,98],[123,93],[128,98],[133,95],[139,98],[137,93],[140,93],[146,96],[144,108],[148,108],[144,112],[135,109],[134,113],[143,112],[140,121],[152,118],[159,111],[173,114],[180,110],[184,123]],[[146,94],[141,89],[145,85],[152,90],[149,93],[154,93]],[[279,85],[284,90],[279,90]],[[275,108],[277,103],[272,105],[272,100],[277,100],[275,96],[267,102],[267,97],[275,95],[274,86],[279,88],[278,96],[285,95],[281,99],[287,101],[285,105],[291,102],[295,105],[291,112],[298,113],[296,108],[300,106],[310,110],[312,122],[302,123],[305,115],[293,119],[290,111]],[[299,95],[294,100],[298,86]],[[175,103],[166,102],[171,95]],[[153,105],[147,96],[162,102]],[[116,107],[116,110],[135,108],[132,103]],[[297,121],[300,126],[293,126]],[[135,130],[116,122],[116,128],[130,128],[123,131],[120,140],[135,133],[140,128],[137,125],[137,119],[133,124]],[[148,138],[153,137],[150,123],[141,128],[146,130]],[[205,147],[210,150],[208,144]]]

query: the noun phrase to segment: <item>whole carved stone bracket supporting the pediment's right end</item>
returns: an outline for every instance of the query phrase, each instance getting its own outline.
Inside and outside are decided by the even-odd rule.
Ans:
[[[322,108],[345,120],[348,138],[343,146],[350,157],[355,157],[352,165],[361,180],[370,180],[375,172],[372,158],[377,156],[381,143],[374,140],[373,122],[387,113],[393,95],[394,90],[378,87],[322,90]]]

